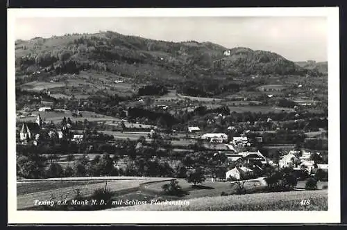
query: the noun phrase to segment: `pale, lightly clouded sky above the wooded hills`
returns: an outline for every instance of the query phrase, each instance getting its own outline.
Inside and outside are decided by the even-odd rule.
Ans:
[[[243,46],[295,62],[328,60],[325,17],[32,17],[15,21],[16,39],[100,30],[171,42]]]

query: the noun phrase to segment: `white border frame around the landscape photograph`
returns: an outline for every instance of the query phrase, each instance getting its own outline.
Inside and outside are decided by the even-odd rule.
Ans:
[[[328,211],[17,211],[15,19],[18,17],[328,17]],[[339,8],[8,9],[8,223],[336,223],[340,222]]]

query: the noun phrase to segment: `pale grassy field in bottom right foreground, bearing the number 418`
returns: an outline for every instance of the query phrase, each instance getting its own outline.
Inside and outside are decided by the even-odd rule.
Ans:
[[[301,200],[310,200],[307,206]],[[132,211],[325,211],[328,210],[327,191],[291,191],[255,193],[223,197],[200,197],[187,200],[188,205],[144,204],[110,210]]]

